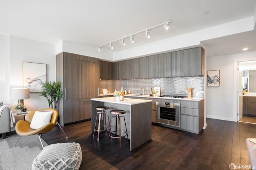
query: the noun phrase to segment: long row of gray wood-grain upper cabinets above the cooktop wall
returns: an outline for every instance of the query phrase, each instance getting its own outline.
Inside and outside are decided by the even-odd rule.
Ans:
[[[113,79],[204,75],[202,47],[150,55],[113,63]]]

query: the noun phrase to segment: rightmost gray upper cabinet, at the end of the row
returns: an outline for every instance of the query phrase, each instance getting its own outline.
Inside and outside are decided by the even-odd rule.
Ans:
[[[204,48],[184,50],[184,76],[204,75]]]

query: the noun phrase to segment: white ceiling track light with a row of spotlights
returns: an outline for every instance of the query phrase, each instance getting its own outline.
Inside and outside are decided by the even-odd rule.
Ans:
[[[134,43],[134,38],[133,38],[132,36],[135,35],[135,34],[142,33],[142,32],[144,32],[144,31],[146,31],[146,37],[147,37],[147,38],[150,38],[150,32],[149,32],[148,30],[152,30],[153,28],[156,28],[156,27],[159,27],[159,26],[163,26],[165,30],[168,30],[168,29],[169,29],[169,22],[170,22],[170,21],[167,21],[167,22],[164,22],[164,23],[162,23],[162,24],[159,24],[159,25],[153,26],[153,27],[151,27],[151,28],[148,28],[148,29],[146,29],[146,30],[142,30],[142,31],[136,32],[136,33],[134,33],[134,34],[130,34],[130,41],[131,41],[132,43]],[[117,42],[117,41],[122,40],[122,45],[125,45],[125,40],[124,40],[124,38],[126,38],[126,37],[128,37],[128,36],[124,36],[123,38],[120,38],[120,39],[118,39],[118,40],[114,40],[114,41],[112,41],[112,42]],[[109,42],[109,47],[110,47],[111,49],[114,49],[114,45],[112,44],[112,42]],[[102,50],[102,46],[107,45],[107,44],[108,44],[108,43],[105,43],[105,44],[100,45],[99,48],[98,48],[98,51],[101,51],[101,50]]]

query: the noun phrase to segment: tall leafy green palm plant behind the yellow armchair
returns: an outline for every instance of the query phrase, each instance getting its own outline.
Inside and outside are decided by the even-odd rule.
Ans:
[[[64,97],[60,81],[45,81],[45,83],[42,83],[40,96],[46,97],[49,108],[56,110],[58,101]]]

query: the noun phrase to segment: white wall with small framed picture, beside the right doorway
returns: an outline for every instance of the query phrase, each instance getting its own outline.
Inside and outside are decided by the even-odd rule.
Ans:
[[[235,75],[234,70],[237,68],[234,68],[234,61],[246,61],[246,59],[256,59],[256,51],[207,57],[206,69],[220,70],[220,86],[206,86],[206,117],[237,121],[235,107],[237,101],[234,98],[237,98],[235,92],[236,87],[238,87],[238,80],[234,80],[234,77],[238,77],[238,71]]]

